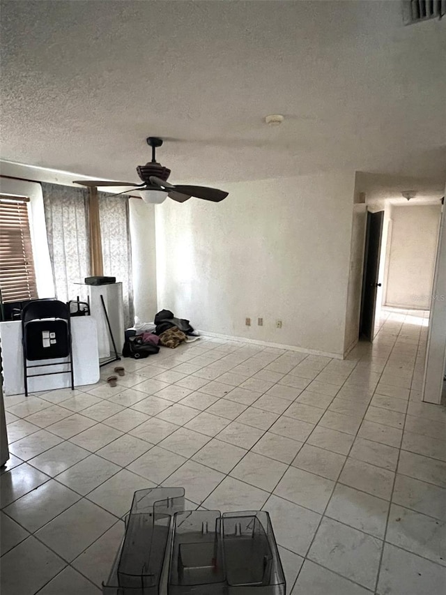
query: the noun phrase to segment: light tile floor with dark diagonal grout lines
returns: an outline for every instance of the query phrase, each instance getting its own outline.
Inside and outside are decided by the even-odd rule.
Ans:
[[[5,398],[1,592],[100,593],[134,490],[269,511],[292,595],[446,591],[446,416],[420,400],[426,312],[345,361],[203,338],[111,388]]]

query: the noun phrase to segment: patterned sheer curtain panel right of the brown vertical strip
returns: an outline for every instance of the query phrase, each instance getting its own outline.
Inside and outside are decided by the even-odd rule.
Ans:
[[[133,326],[132,250],[128,198],[98,192],[104,275],[123,284],[124,324]]]

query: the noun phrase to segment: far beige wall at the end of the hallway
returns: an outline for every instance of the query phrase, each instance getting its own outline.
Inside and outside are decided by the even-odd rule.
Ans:
[[[430,306],[441,205],[392,206],[385,305]]]

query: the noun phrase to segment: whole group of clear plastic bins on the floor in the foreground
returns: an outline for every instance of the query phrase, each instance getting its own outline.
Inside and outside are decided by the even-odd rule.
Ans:
[[[184,511],[184,496],[134,492],[104,595],[285,595],[268,513]]]

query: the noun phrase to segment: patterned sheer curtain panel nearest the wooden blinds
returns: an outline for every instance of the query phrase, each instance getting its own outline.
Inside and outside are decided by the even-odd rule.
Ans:
[[[90,274],[87,190],[42,183],[42,193],[56,298],[86,301],[78,284]]]

